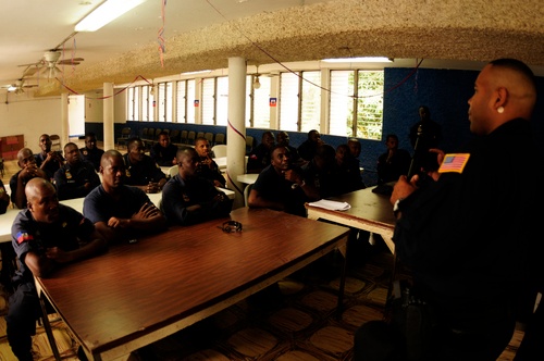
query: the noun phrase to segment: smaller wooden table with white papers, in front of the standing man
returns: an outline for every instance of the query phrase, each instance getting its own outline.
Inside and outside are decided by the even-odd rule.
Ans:
[[[319,207],[306,206],[308,217],[323,219],[349,227],[369,231],[382,236],[392,253],[395,253],[393,232],[395,215],[390,196],[372,192],[373,187],[356,190],[338,197],[327,198],[338,202],[347,202],[351,208],[347,211],[331,211]]]

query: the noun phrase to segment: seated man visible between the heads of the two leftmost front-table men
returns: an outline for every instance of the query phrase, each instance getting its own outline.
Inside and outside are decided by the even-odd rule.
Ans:
[[[54,185],[59,200],[83,198],[100,185],[95,166],[81,158],[79,149],[73,142],[64,146],[66,163],[54,173]]]

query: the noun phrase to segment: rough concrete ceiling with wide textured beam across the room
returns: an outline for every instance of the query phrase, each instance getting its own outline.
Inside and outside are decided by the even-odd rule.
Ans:
[[[542,0],[161,0],[141,5],[95,33],[74,25],[99,0],[2,1],[0,85],[25,74],[36,96],[127,84],[183,72],[345,57],[395,58],[394,66],[477,70],[517,58],[544,75]],[[162,16],[164,14],[164,18]],[[163,63],[158,35],[164,28]],[[40,72],[48,50],[78,65]],[[24,66],[20,66],[24,65]]]

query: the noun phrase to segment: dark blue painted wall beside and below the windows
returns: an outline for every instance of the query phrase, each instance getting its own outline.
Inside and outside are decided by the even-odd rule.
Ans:
[[[453,70],[430,70],[420,69],[411,76],[411,69],[385,69],[385,96],[384,96],[384,123],[383,136],[394,133],[400,140],[400,148],[411,152],[408,139],[410,126],[419,121],[418,109],[420,105],[428,105],[431,117],[442,125],[444,140],[442,148],[445,151],[457,149],[470,138],[468,122],[468,99],[472,96],[474,80],[478,77],[477,71],[453,71]],[[533,114],[533,128],[535,137],[544,153],[544,77],[537,78],[537,91],[541,95]],[[115,124],[115,135],[121,134],[121,128],[129,126],[135,135],[140,135],[144,127],[149,126],[161,128],[178,128],[195,132],[211,132],[213,134],[224,133],[225,126],[208,126],[199,124],[176,124],[176,123],[143,123],[127,122]],[[102,124],[87,123],[86,132],[92,130],[99,139],[102,137]],[[247,135],[260,142],[262,133],[265,129],[247,129]],[[307,139],[306,133],[289,132],[290,144],[299,146]],[[345,137],[323,135],[323,140],[333,147],[347,141]],[[375,163],[378,157],[385,151],[384,141],[360,139],[361,155],[359,158],[361,166],[364,167],[363,180],[367,186],[375,185],[376,173]]]

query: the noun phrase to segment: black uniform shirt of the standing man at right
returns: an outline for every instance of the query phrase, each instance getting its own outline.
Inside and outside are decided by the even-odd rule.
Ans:
[[[399,204],[399,260],[455,327],[481,323],[482,311],[511,302],[518,287],[543,274],[534,269],[543,248],[535,212],[542,192],[534,191],[543,161],[530,126],[514,120],[474,139],[462,172],[443,173]]]

